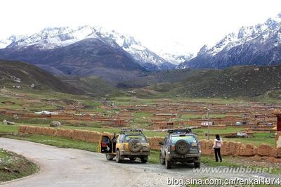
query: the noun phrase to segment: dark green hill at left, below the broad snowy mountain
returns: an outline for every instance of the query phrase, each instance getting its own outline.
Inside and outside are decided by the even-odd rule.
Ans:
[[[10,60],[0,60],[0,86],[15,90],[18,89],[14,86],[21,86],[26,91],[52,90],[91,96],[118,93],[110,82],[99,77],[55,77],[37,66]]]

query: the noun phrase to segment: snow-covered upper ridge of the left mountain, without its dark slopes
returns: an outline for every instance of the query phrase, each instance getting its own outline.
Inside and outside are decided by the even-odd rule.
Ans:
[[[100,39],[113,47],[118,44],[147,70],[171,69],[176,66],[173,64],[174,61],[169,62],[158,56],[130,35],[119,34],[115,30],[108,31],[102,27],[48,27],[30,36],[4,41],[1,48],[19,50],[27,46],[35,46],[38,50],[47,51],[69,46],[83,39]]]

